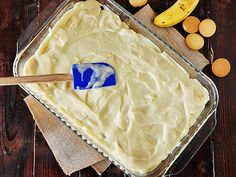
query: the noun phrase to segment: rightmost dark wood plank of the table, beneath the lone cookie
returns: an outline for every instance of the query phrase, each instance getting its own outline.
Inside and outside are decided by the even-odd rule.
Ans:
[[[236,1],[212,0],[211,4],[212,15],[218,24],[217,34],[213,38],[215,58],[227,57],[232,66],[228,77],[212,77],[220,94],[218,125],[213,134],[216,176],[233,177],[236,175]]]

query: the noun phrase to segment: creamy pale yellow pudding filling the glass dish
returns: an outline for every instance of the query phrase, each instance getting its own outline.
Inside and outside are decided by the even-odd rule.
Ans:
[[[117,85],[85,91],[73,90],[71,82],[28,87],[133,172],[155,169],[209,100],[197,80],[95,0],[77,3],[63,15],[26,62],[24,74],[70,73],[72,64],[89,62],[112,65]]]

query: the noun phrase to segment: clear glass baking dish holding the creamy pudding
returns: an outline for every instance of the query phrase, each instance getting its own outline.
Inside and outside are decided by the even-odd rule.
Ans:
[[[39,16],[29,25],[26,31],[20,36],[17,42],[17,54],[13,64],[14,76],[21,76],[25,62],[34,54],[42,40],[47,36],[50,28],[60,19],[60,17],[69,9],[73,7],[76,2],[81,0],[66,0],[62,3],[57,0],[51,1],[47,8],[45,8]],[[32,92],[26,85],[20,85],[27,93],[32,95],[35,99],[41,102],[49,111],[55,114],[61,121],[63,121],[71,130],[79,135],[90,146],[96,149],[99,153],[107,157],[111,162],[123,170],[130,176],[164,176],[172,175],[181,171],[190,159],[194,156],[197,150],[205,142],[216,125],[216,108],[218,105],[218,91],[215,84],[201,71],[192,65],[186,58],[179,55],[171,46],[167,45],[158,35],[148,29],[132,14],[122,8],[113,0],[98,0],[101,3],[101,8],[110,9],[122,21],[126,22],[128,26],[134,31],[143,34],[155,43],[162,51],[169,54],[172,59],[179,63],[191,76],[197,79],[204,87],[207,88],[210,100],[205,109],[198,117],[196,123],[190,128],[188,134],[181,140],[179,146],[168,155],[168,157],[161,162],[161,164],[152,172],[148,174],[139,174],[130,171],[122,164],[116,157],[113,157],[109,152],[96,144],[91,138],[86,136],[85,132],[78,125],[76,125],[69,118],[64,116],[57,108],[51,105],[46,100],[42,99],[38,93]]]

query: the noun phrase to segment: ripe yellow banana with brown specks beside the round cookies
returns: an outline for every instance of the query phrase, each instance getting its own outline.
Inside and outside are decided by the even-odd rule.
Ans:
[[[166,11],[157,15],[154,24],[159,27],[171,27],[185,19],[197,6],[199,0],[177,0]]]

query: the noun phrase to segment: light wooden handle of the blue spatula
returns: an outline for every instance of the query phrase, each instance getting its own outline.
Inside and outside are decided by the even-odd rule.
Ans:
[[[37,76],[0,77],[0,86],[38,82],[72,81],[71,74],[50,74]]]

